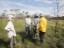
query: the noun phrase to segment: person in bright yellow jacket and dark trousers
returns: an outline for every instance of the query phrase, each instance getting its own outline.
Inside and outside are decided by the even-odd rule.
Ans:
[[[46,32],[46,27],[47,27],[47,20],[43,15],[40,15],[39,27],[38,27],[40,42],[43,42],[43,37]]]

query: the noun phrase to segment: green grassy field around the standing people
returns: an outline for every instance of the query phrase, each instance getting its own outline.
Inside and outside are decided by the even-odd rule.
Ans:
[[[25,21],[24,19],[13,20],[14,27],[17,33],[16,48],[64,48],[64,20],[58,21],[58,27],[55,32],[56,21],[49,20],[47,24],[47,31],[44,37],[44,42],[40,44],[39,38],[37,42],[33,43],[31,39],[24,39]],[[0,48],[7,48],[6,43],[8,41],[7,32],[4,31],[4,27],[7,24],[7,20],[0,19]],[[31,33],[33,33],[31,31]],[[24,42],[23,42],[24,39]]]

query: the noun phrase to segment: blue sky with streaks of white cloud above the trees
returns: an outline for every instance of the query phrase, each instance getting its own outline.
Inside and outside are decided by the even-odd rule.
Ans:
[[[64,15],[64,0],[59,2],[62,6],[60,15]],[[44,15],[54,16],[56,13],[56,0],[0,0],[0,13],[3,10],[21,9],[21,11],[28,11],[30,14],[42,13]]]

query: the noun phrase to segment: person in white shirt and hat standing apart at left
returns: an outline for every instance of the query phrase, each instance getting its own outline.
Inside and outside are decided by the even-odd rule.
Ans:
[[[16,32],[15,32],[15,29],[14,29],[14,25],[12,23],[12,18],[13,18],[13,15],[8,15],[8,23],[5,26],[5,30],[8,33],[8,38],[9,38],[9,41],[10,41],[10,48],[13,48],[13,42],[15,43],[15,41],[16,41],[15,40]]]

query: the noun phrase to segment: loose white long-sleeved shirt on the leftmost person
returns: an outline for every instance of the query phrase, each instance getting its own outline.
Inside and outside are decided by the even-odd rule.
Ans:
[[[5,30],[8,31],[8,37],[11,38],[13,36],[16,36],[16,32],[15,32],[15,29],[14,29],[14,26],[13,26],[13,23],[12,21],[9,21],[5,27]],[[12,30],[12,31],[11,31]]]

